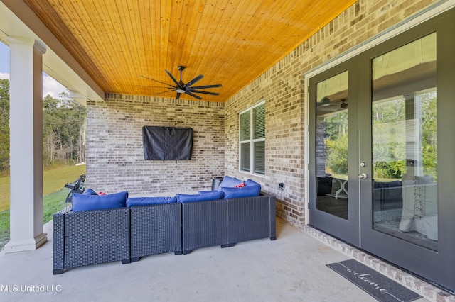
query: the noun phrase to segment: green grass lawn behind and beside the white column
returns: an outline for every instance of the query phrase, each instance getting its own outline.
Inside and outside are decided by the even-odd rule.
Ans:
[[[85,165],[43,171],[43,223],[50,221],[53,213],[68,206],[68,203],[65,203],[68,189],[64,186],[77,180],[81,174],[85,174]],[[0,178],[0,190],[0,250],[2,250],[9,241],[9,177]]]

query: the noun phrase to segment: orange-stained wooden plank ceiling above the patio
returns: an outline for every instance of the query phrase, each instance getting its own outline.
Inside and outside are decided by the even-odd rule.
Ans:
[[[105,92],[176,98],[159,82],[175,85],[165,69],[179,80],[182,65],[185,83],[223,84],[205,101],[227,101],[355,2],[24,1]]]

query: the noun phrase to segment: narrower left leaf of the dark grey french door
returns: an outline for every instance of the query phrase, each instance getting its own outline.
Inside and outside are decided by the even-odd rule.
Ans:
[[[344,62],[310,79],[310,224],[358,246],[358,138],[354,72]]]

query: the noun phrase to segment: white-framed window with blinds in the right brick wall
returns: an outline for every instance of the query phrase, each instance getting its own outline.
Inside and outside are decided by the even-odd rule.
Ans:
[[[240,171],[265,174],[265,101],[240,113]]]

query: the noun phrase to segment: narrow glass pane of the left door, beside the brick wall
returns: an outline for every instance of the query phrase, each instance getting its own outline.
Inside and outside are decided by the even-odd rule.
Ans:
[[[348,219],[348,72],[316,84],[316,208]]]

